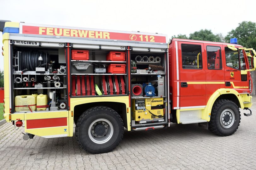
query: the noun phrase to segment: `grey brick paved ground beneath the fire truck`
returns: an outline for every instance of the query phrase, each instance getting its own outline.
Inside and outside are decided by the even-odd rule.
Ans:
[[[255,98],[256,99],[256,98]],[[21,128],[0,126],[1,169],[256,169],[256,104],[234,135],[219,137],[197,125],[125,131],[112,152],[91,155],[75,137],[23,141]],[[243,113],[243,112],[242,112]]]

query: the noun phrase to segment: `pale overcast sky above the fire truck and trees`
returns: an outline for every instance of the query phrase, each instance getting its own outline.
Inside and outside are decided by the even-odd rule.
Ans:
[[[200,29],[226,35],[242,21],[256,22],[255,0],[1,0],[0,6],[0,19],[12,22],[157,32],[169,38]]]

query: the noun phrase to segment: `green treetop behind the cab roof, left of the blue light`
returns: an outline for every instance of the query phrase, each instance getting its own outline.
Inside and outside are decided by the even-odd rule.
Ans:
[[[201,29],[200,31],[195,31],[194,33],[189,34],[189,39],[221,42],[221,37],[219,35],[214,35],[210,29]]]

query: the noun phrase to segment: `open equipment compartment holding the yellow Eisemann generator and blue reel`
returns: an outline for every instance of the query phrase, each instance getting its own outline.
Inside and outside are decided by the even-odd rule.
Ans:
[[[133,127],[162,124],[166,115],[165,53],[131,52],[131,121]]]

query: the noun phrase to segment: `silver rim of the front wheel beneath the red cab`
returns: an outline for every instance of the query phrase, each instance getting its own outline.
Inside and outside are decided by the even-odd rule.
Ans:
[[[235,122],[235,114],[231,109],[225,109],[220,114],[220,124],[224,128],[230,128]]]

